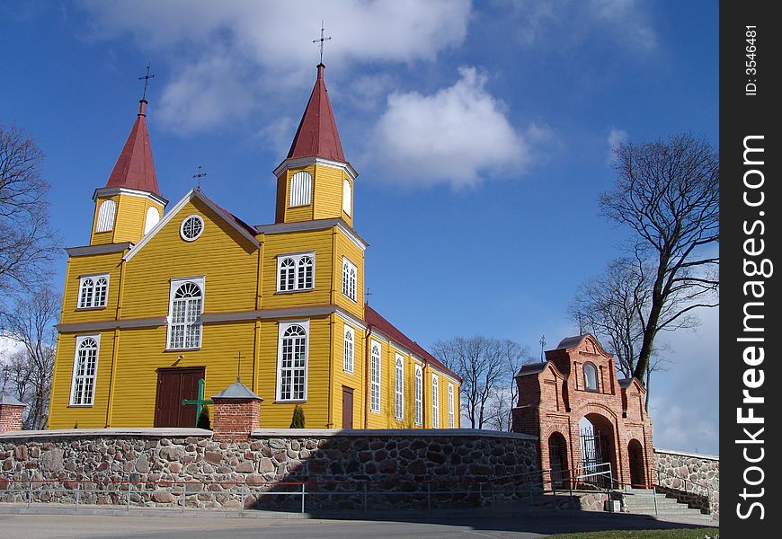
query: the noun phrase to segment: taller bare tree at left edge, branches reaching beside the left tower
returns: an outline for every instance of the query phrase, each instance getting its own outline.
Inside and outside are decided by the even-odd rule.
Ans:
[[[57,250],[49,228],[49,184],[43,152],[16,125],[0,124],[0,295],[15,296],[45,282]],[[0,310],[7,305],[0,302]]]

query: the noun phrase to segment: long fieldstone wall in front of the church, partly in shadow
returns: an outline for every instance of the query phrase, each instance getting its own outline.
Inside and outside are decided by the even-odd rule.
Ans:
[[[534,437],[467,429],[22,431],[0,436],[0,501],[298,510],[287,493],[304,489],[307,508],[482,505],[537,454]]]

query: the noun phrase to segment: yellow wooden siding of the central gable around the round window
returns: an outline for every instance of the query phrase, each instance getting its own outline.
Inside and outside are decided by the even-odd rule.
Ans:
[[[186,242],[180,225],[193,214],[203,218],[204,230]],[[257,268],[257,248],[193,199],[128,261],[121,317],[167,316],[170,279],[196,276],[205,276],[204,313],[251,311]]]

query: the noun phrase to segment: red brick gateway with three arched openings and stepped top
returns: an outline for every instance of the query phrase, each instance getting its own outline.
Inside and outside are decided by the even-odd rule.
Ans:
[[[646,390],[617,379],[613,356],[592,335],[562,340],[545,362],[521,367],[516,384],[513,430],[539,438],[540,467],[555,481],[609,463],[615,486],[656,482]]]

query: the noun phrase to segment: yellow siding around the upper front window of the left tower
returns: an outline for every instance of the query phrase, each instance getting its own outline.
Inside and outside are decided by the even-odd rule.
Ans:
[[[108,252],[89,256],[73,256],[68,262],[66,285],[63,290],[61,323],[114,320],[120,290],[120,262],[123,252]],[[106,307],[77,310],[80,277],[100,273],[109,274]]]

